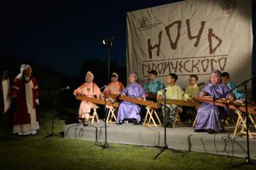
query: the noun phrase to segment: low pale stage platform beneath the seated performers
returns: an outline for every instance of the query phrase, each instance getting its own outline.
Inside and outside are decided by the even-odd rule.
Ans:
[[[246,136],[233,138],[234,127],[227,127],[226,130],[227,132],[223,134],[207,134],[207,132],[194,132],[192,127],[166,128],[167,145],[169,148],[189,152],[246,157]],[[107,132],[108,143],[143,146],[163,146],[164,143],[163,127],[108,124]],[[77,124],[66,125],[65,138],[104,142],[104,122],[94,122],[88,127]],[[252,159],[256,159],[256,139],[250,139],[250,154]]]

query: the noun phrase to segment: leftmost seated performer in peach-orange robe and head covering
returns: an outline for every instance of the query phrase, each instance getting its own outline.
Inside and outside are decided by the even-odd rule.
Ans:
[[[102,98],[102,93],[100,92],[99,87],[93,83],[93,74],[92,72],[88,71],[86,73],[85,77],[85,83],[78,87],[76,90],[74,90],[74,96],[87,96],[87,97],[97,97],[97,99]],[[79,120],[83,123],[83,125],[88,125],[88,119],[90,116],[91,109],[95,106],[95,104],[87,102],[87,101],[81,101],[80,107],[79,107]]]

